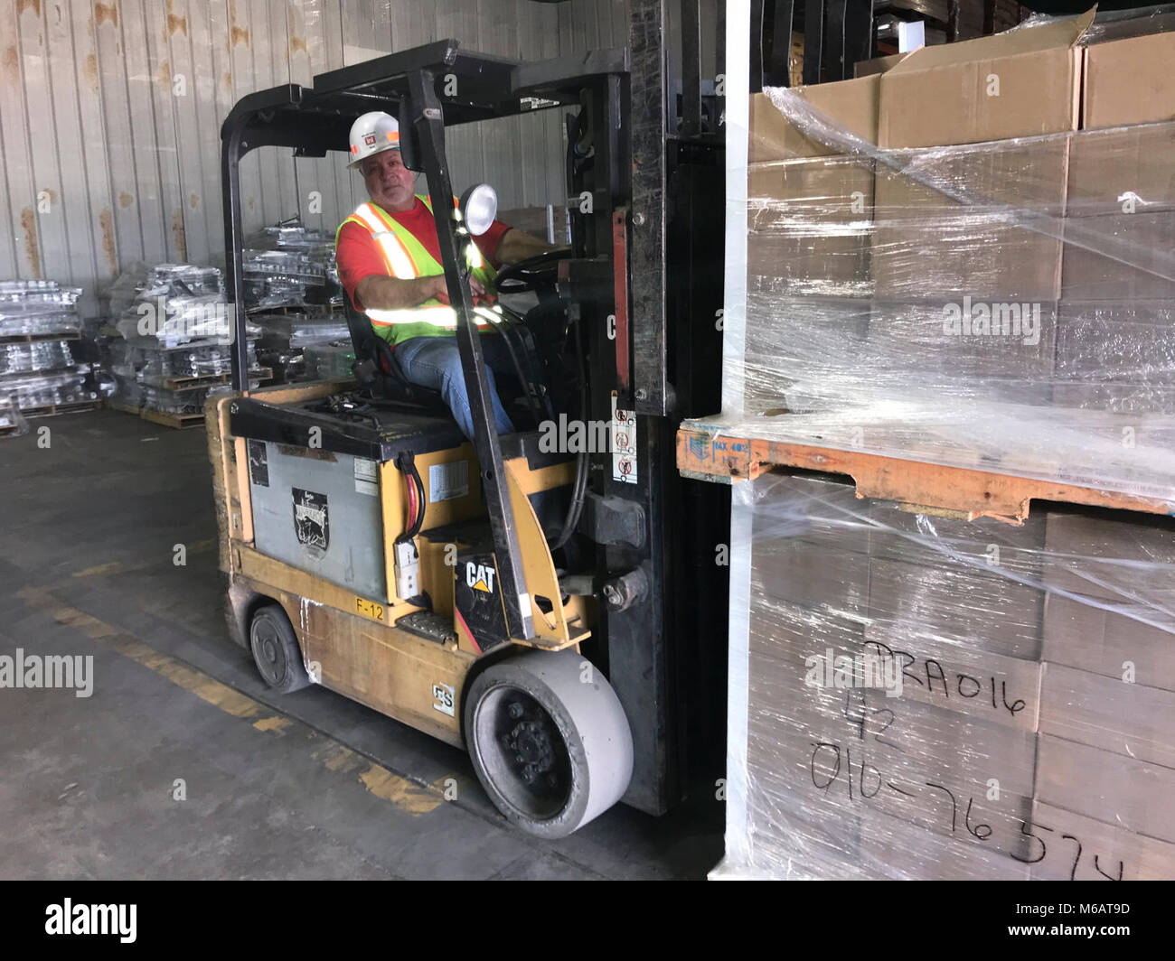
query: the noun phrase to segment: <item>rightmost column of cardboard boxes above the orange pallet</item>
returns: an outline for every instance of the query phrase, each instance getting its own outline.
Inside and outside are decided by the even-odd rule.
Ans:
[[[1171,33],[1086,51],[1082,132],[1073,136],[1068,177],[1066,336],[1058,344],[1056,399],[1066,406],[1175,414],[1173,56]]]

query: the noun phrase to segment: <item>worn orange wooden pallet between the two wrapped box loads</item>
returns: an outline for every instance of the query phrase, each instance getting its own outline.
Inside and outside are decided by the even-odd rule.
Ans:
[[[1028,516],[1033,500],[1088,504],[1146,513],[1175,513],[1175,503],[1154,497],[904,461],[862,451],[751,437],[716,437],[712,426],[706,429],[689,421],[677,432],[677,466],[686,477],[727,484],[758,477],[773,468],[842,473],[857,484],[858,497],[895,500],[927,509],[924,512],[946,511],[965,516],[968,520],[994,517],[1020,524]]]

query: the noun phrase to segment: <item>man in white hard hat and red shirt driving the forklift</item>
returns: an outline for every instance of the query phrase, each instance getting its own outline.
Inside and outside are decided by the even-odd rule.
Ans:
[[[350,168],[363,174],[370,201],[340,227],[335,237],[338,278],[356,310],[392,348],[404,378],[437,390],[465,437],[472,439],[469,394],[457,350],[457,317],[449,305],[441,243],[429,196],[415,194],[415,174],[400,153],[400,125],[374,110],[351,126]],[[470,290],[483,310],[496,298],[496,269],[560,249],[495,220],[470,244]],[[495,334],[483,316],[478,332]],[[511,376],[511,358],[496,336],[482,342],[486,381],[498,434],[515,428],[498,397],[495,372]]]

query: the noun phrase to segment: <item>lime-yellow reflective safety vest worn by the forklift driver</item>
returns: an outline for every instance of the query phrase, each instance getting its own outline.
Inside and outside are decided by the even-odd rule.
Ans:
[[[432,203],[429,197],[423,194],[416,196],[431,213]],[[456,207],[457,199],[454,197],[452,202]],[[444,267],[437,262],[437,258],[429,253],[411,230],[382,207],[370,201],[361,203],[354,214],[338,224],[338,230],[335,231],[336,247],[343,226],[352,222],[364,228],[365,234],[380,250],[388,276],[407,281],[444,274]],[[485,288],[486,293],[494,294],[495,270],[482,258],[482,253],[472,240],[468,246],[468,256],[472,275]],[[491,321],[486,318],[489,310],[485,307],[474,308],[474,320],[479,328],[491,325]],[[457,311],[441,303],[436,297],[404,310],[371,309],[363,313],[371,321],[376,335],[391,344],[402,343],[411,337],[450,337],[457,330]]]

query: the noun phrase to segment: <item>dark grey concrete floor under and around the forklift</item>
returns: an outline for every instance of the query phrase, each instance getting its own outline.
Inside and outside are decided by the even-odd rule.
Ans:
[[[321,687],[271,694],[223,629],[203,430],[32,424],[0,438],[0,654],[93,656],[94,684],[0,690],[0,876],[667,879],[721,858],[705,784],[544,842],[463,752]]]

